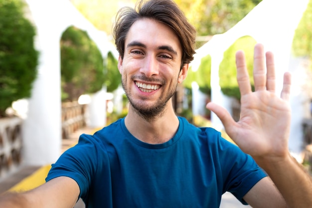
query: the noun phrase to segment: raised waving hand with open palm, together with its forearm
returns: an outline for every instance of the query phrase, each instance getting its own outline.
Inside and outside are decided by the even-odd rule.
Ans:
[[[255,92],[251,90],[242,51],[236,53],[236,65],[241,92],[240,120],[235,122],[224,108],[214,103],[208,103],[207,108],[220,118],[234,142],[268,173],[290,208],[311,207],[311,177],[291,158],[288,149],[291,123],[288,102],[290,73],[284,74],[281,97],[278,97],[275,94],[273,54],[266,53],[265,67],[261,44],[255,46],[254,53]],[[263,191],[264,187],[256,189],[257,192]]]

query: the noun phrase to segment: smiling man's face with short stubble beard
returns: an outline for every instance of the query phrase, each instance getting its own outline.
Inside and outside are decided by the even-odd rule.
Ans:
[[[141,116],[154,118],[166,108],[187,73],[187,64],[180,70],[181,57],[179,39],[170,27],[149,18],[131,26],[118,68],[130,104]]]

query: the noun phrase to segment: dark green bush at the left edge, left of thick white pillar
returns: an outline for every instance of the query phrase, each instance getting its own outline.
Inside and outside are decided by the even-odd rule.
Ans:
[[[23,6],[20,0],[0,0],[0,117],[13,101],[30,97],[37,74],[35,29]]]

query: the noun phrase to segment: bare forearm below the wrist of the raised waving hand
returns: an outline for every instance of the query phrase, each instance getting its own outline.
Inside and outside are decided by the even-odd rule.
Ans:
[[[311,208],[312,178],[291,155],[274,163],[261,161],[260,166],[268,173],[290,208]]]

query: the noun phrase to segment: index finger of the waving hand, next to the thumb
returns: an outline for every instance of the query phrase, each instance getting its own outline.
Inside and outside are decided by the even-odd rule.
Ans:
[[[237,82],[241,96],[251,92],[250,80],[243,51],[236,52]]]

